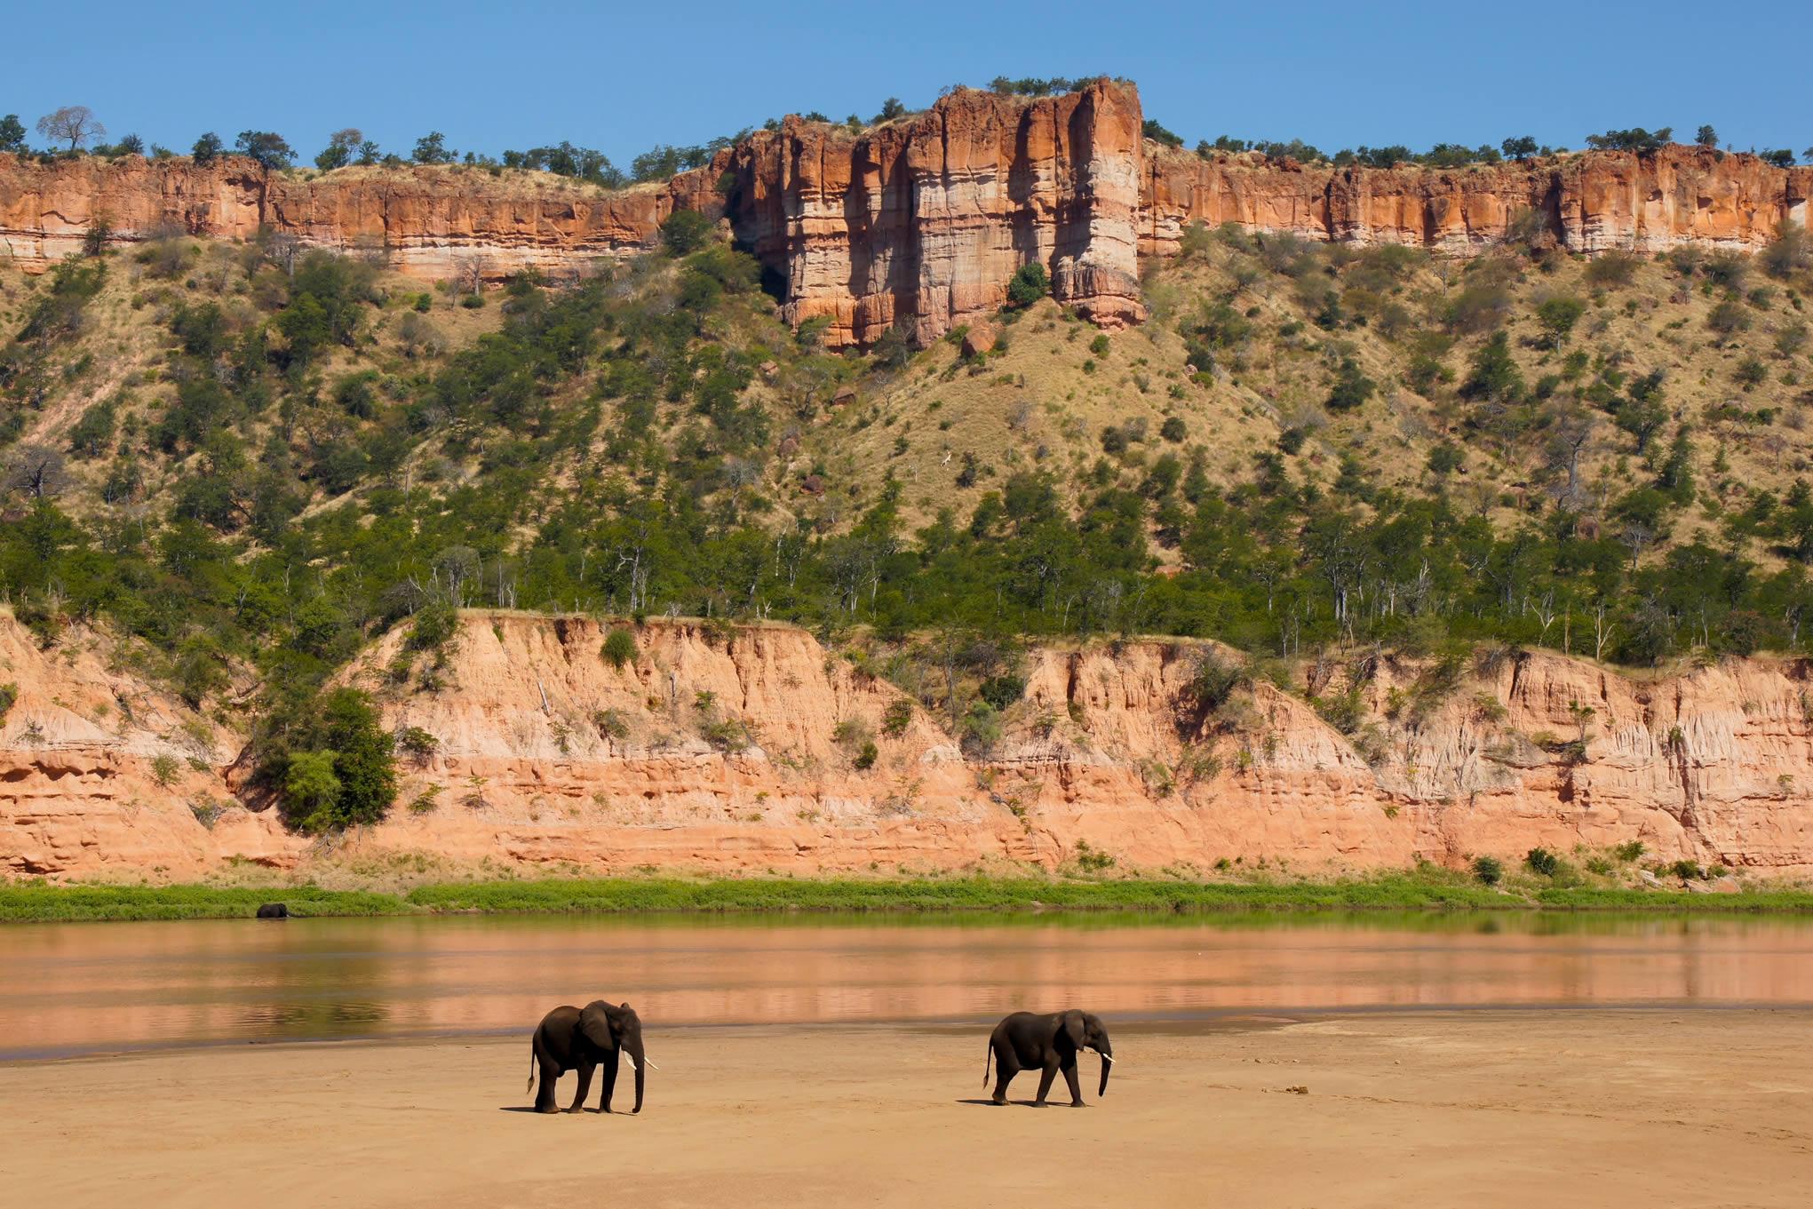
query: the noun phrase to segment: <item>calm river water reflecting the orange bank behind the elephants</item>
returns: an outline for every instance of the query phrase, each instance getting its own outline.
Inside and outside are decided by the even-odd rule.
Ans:
[[[1463,1006],[1813,1006],[1813,921],[1215,915],[441,917],[0,926],[0,1059],[651,1026]]]

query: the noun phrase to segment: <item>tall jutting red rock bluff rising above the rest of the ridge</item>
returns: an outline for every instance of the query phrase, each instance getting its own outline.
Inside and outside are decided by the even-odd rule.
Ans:
[[[732,149],[732,228],[785,276],[792,323],[829,344],[908,323],[921,343],[1006,301],[1021,265],[1104,326],[1140,319],[1135,221],[1139,92],[1012,100],[959,89],[930,111],[852,134],[789,118]]]

